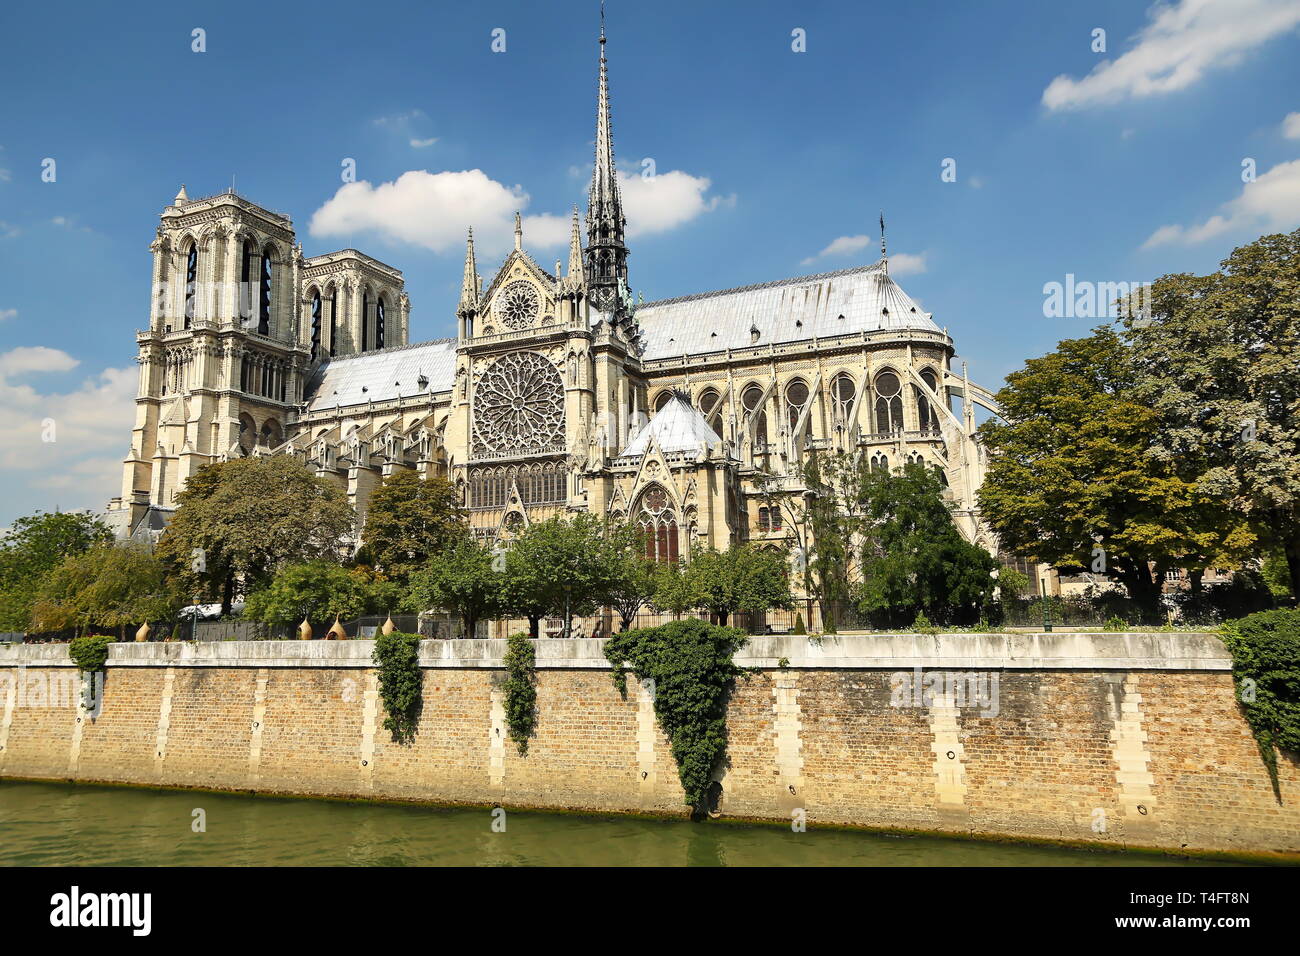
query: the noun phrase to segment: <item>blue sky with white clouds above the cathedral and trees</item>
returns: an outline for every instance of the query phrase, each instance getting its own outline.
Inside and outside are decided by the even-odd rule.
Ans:
[[[118,493],[148,243],[182,182],[234,181],[292,216],[308,255],[354,246],[402,269],[412,339],[454,330],[467,224],[485,277],[515,208],[540,261],[564,254],[595,3],[304,9],[0,12],[0,524]],[[620,170],[656,173],[628,185],[632,286],[658,299],[871,261],[884,209],[894,274],[996,389],[1096,324],[1044,317],[1044,284],[1206,272],[1300,225],[1297,25],[1296,0],[611,0]],[[341,193],[344,159],[359,182]]]

